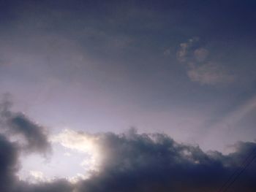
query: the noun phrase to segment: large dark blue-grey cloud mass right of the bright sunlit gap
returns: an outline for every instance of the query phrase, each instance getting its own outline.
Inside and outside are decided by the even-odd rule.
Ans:
[[[102,134],[99,143],[102,169],[81,182],[78,191],[217,191],[256,149],[255,143],[241,142],[229,155],[204,153],[198,146],[178,144],[165,134],[134,131]],[[254,164],[233,191],[255,190],[255,171]]]

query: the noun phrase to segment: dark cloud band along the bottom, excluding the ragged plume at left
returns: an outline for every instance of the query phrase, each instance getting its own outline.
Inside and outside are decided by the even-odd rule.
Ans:
[[[79,134],[83,136],[83,132]],[[15,176],[19,165],[17,143],[0,137],[1,191],[211,192],[217,191],[250,153],[249,159],[256,155],[255,142],[238,142],[233,146],[233,153],[223,155],[179,144],[166,134],[138,134],[134,129],[125,134],[102,133],[91,137],[97,138],[102,156],[99,171],[75,184],[58,179],[37,184],[18,180]],[[232,190],[255,191],[255,172],[256,164],[252,162],[232,185]]]

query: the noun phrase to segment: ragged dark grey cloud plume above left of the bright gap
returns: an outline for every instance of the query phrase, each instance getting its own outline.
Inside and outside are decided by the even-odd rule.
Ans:
[[[50,143],[45,128],[37,125],[23,113],[12,112],[12,102],[8,99],[0,104],[0,123],[4,130],[10,134],[21,135],[26,140],[23,150],[29,153],[48,153]]]

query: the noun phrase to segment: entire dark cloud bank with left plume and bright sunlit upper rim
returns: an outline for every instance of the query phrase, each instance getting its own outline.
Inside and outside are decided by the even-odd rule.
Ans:
[[[12,141],[8,130],[12,134],[21,134],[26,145],[18,139]],[[223,155],[178,143],[166,134],[138,134],[135,129],[124,134],[66,130],[54,136],[55,142],[74,150],[96,150],[100,156],[98,169],[77,183],[64,178],[27,183],[17,176],[22,166],[19,155],[24,151],[44,154],[49,150],[51,136],[42,130],[42,126],[25,115],[12,112],[10,103],[1,104],[0,191],[217,191],[248,154],[256,153],[255,142],[238,142],[233,146],[233,153]],[[249,158],[254,158],[255,153]],[[255,191],[255,171],[253,162],[234,183],[232,190]]]

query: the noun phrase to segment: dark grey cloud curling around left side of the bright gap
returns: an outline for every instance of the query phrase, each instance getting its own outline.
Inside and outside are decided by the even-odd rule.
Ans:
[[[6,94],[0,104],[0,191],[4,192],[71,192],[72,184],[67,180],[53,180],[51,183],[27,183],[18,178],[18,170],[22,166],[19,161],[20,153],[48,153],[50,142],[41,126],[32,122],[22,113],[10,110],[12,102]],[[27,141],[22,145],[19,140],[10,141],[10,134],[21,134]]]

